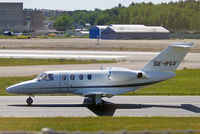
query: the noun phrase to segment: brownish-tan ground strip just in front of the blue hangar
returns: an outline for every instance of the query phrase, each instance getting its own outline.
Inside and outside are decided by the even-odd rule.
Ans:
[[[160,52],[169,44],[176,42],[194,43],[190,52],[200,52],[199,39],[170,40],[100,40],[96,39],[1,39],[0,49],[37,50],[107,50],[107,51],[150,51]]]

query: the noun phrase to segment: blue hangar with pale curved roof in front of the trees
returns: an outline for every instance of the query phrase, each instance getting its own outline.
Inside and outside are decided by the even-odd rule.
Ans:
[[[98,28],[98,27],[97,27]],[[110,25],[105,29],[90,29],[92,33],[98,33],[101,39],[169,39],[170,32],[162,26],[145,25]],[[95,38],[95,36],[90,36]]]

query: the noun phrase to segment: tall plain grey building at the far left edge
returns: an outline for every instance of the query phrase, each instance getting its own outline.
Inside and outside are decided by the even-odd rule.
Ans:
[[[23,3],[0,3],[1,32],[22,32],[24,23]]]

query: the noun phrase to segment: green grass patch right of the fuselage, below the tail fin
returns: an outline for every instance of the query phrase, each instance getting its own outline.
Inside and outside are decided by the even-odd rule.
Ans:
[[[176,77],[125,95],[200,95],[200,69],[176,71]]]

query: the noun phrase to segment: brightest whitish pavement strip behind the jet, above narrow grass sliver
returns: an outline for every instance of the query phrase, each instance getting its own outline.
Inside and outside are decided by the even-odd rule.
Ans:
[[[157,55],[156,52],[121,51],[70,51],[70,50],[0,50],[0,58],[39,58],[39,59],[95,59],[120,60],[135,55]]]

